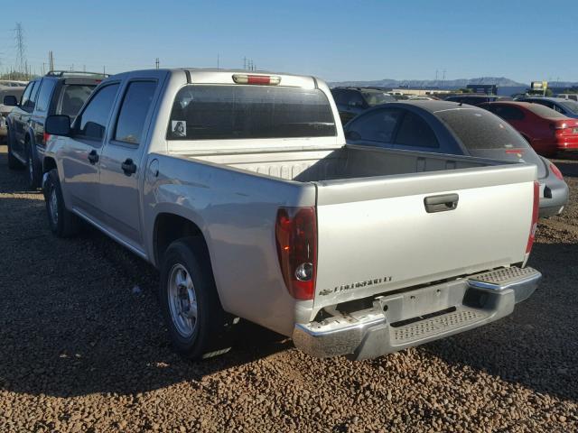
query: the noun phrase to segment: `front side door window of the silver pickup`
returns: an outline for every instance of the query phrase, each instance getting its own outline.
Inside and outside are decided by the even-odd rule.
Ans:
[[[100,88],[77,119],[76,134],[89,140],[101,141],[107,131],[108,116],[117,97],[118,84]]]

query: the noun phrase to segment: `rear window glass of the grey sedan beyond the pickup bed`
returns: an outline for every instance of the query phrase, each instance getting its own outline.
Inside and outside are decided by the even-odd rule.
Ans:
[[[456,109],[434,113],[468,150],[518,149],[528,144],[505,120],[489,111]]]

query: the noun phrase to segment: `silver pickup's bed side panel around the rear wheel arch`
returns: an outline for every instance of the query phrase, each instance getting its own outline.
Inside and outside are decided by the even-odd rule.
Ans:
[[[297,303],[284,286],[275,218],[279,207],[314,206],[314,186],[161,153],[149,155],[145,178],[149,257],[154,257],[154,222],[160,214],[189,219],[209,248],[223,308],[291,335],[295,311],[311,309],[312,301]]]

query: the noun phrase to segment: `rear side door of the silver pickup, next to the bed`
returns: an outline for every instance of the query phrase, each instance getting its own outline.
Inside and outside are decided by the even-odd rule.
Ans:
[[[154,74],[154,72],[151,72]],[[123,88],[117,120],[100,158],[99,195],[105,224],[117,237],[142,251],[141,200],[143,152],[157,97],[156,78],[134,78]]]

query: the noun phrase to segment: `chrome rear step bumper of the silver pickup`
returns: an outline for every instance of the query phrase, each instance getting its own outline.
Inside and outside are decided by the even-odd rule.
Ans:
[[[294,345],[317,357],[375,358],[508,316],[536,290],[532,268],[504,268],[382,296],[371,309],[297,324]]]

